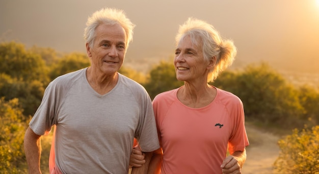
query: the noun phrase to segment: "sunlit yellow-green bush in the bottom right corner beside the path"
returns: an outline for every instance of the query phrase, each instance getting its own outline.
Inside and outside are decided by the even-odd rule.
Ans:
[[[274,163],[277,172],[319,174],[319,126],[302,131],[295,129],[278,144],[280,153]]]

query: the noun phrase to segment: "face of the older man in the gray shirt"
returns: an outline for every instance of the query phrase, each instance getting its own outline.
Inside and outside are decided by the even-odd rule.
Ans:
[[[91,68],[103,76],[114,75],[122,66],[126,53],[126,35],[119,25],[101,24],[95,29],[93,47],[86,45]]]

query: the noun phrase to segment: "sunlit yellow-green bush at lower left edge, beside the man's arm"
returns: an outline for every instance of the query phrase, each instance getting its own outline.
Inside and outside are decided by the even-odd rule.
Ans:
[[[29,120],[30,118],[28,118]],[[26,117],[18,107],[18,99],[6,102],[0,98],[0,171],[1,173],[23,173],[25,154],[23,137],[27,127]]]

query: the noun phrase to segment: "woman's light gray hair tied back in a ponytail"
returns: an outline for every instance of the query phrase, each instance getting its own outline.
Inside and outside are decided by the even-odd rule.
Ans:
[[[185,37],[190,36],[192,44],[202,48],[204,59],[210,61],[216,57],[216,64],[208,72],[207,81],[213,82],[219,73],[232,64],[237,49],[230,39],[223,39],[220,33],[209,23],[196,18],[188,18],[179,26],[175,37],[176,45]]]

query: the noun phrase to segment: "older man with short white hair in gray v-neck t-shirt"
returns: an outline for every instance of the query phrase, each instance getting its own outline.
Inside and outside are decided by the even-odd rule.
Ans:
[[[146,156],[159,148],[149,95],[117,72],[134,27],[117,9],[88,18],[84,37],[91,66],[46,88],[24,137],[30,173],[41,173],[40,137],[54,125],[54,173],[127,173],[134,138]]]

